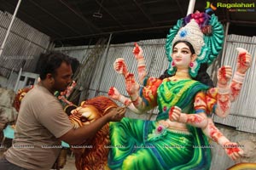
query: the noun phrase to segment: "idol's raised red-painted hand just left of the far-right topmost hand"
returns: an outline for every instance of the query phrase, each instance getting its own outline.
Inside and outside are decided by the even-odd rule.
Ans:
[[[230,65],[224,65],[218,69],[218,85],[221,87],[227,86],[228,82],[230,82],[230,78],[232,77],[232,68]]]

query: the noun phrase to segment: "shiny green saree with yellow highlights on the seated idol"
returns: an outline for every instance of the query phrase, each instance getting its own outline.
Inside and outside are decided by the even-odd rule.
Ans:
[[[209,169],[211,152],[200,128],[187,126],[189,133],[186,133],[160,125],[161,120],[168,119],[168,112],[174,105],[183,112],[194,113],[195,94],[207,88],[194,80],[165,79],[154,96],[159,110],[156,121],[125,117],[121,122],[110,123],[108,166],[129,170]]]

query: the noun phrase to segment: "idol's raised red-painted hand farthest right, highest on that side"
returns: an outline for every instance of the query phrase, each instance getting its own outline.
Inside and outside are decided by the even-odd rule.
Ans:
[[[252,56],[244,48],[236,48],[238,51],[238,58],[236,68],[241,74],[244,74],[252,64]]]

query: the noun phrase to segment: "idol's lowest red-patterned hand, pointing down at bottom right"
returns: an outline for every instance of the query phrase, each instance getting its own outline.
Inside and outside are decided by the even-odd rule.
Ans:
[[[243,150],[241,150],[236,143],[225,143],[224,150],[233,161],[237,161],[243,155]]]

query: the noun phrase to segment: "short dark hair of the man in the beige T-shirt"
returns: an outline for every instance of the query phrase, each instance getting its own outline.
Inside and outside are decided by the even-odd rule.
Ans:
[[[51,51],[47,54],[41,54],[38,64],[39,76],[41,80],[46,78],[47,74],[55,74],[55,70],[61,66],[62,62],[71,65],[71,58],[66,54]]]

